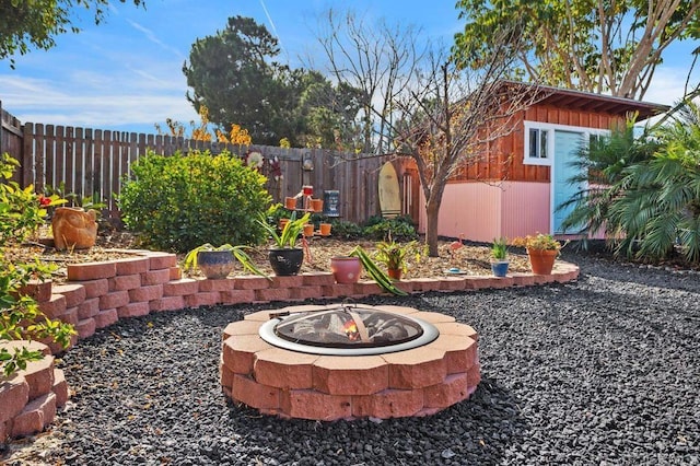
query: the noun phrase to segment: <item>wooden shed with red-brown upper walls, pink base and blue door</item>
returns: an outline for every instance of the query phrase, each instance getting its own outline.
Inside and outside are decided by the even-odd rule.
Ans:
[[[580,189],[568,179],[573,170],[569,163],[581,144],[609,133],[632,114],[641,121],[668,110],[666,105],[629,98],[538,89],[546,96],[518,114],[516,128],[447,183],[439,235],[491,242],[537,232],[562,234],[561,222],[568,212],[557,211],[557,207]],[[421,209],[419,231],[424,230],[425,212]]]

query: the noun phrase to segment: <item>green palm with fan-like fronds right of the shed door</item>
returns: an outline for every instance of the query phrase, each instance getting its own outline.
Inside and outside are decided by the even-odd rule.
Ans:
[[[660,149],[623,171],[608,220],[623,237],[616,252],[663,258],[679,244],[700,260],[700,107],[687,102],[654,136]]]

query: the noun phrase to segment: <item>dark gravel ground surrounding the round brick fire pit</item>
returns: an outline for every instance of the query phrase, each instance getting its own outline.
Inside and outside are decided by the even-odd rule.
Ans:
[[[401,303],[480,334],[482,382],[435,416],[284,421],[228,403],[223,327],[267,306],[119,322],[61,366],[74,396],[9,465],[700,465],[700,275],[593,255],[575,283]],[[283,304],[279,304],[282,306]],[[19,448],[19,450],[18,450]]]

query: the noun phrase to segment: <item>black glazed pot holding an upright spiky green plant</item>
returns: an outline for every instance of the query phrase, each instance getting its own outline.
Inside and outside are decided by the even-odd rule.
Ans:
[[[301,219],[296,218],[296,212],[292,212],[289,222],[278,233],[277,228],[270,225],[265,219],[258,223],[269,233],[275,245],[269,248],[268,258],[270,266],[277,276],[292,276],[299,273],[304,261],[304,249],[296,247],[300,234],[304,225],[308,222],[311,213],[305,213]]]

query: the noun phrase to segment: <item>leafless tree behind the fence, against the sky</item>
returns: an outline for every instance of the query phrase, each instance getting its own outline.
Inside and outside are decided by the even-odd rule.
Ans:
[[[394,102],[423,56],[419,33],[413,26],[389,25],[383,20],[369,24],[351,11],[329,10],[319,18],[315,34],[326,55],[327,72],[338,83],[361,91],[364,153],[392,150]]]

